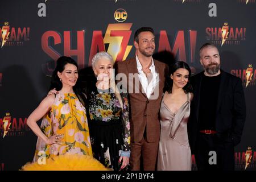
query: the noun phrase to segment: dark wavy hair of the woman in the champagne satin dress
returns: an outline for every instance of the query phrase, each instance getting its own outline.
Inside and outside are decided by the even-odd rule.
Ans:
[[[190,84],[189,80],[191,77],[191,69],[189,68],[189,65],[183,61],[176,61],[174,64],[172,64],[169,67],[169,72],[168,72],[168,76],[166,78],[166,83],[164,84],[164,92],[168,92],[168,93],[172,93],[172,85],[173,85],[173,81],[171,79],[171,75],[174,76],[174,72],[176,72],[177,69],[179,68],[184,68],[187,69],[187,71],[189,72],[188,75],[188,82],[187,84],[183,87],[183,90],[185,93],[188,92],[192,92],[192,85]]]

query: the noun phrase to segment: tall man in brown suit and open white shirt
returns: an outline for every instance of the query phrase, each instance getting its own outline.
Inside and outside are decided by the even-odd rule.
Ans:
[[[123,85],[130,97],[131,170],[140,170],[141,156],[145,171],[155,170],[160,139],[159,110],[168,66],[154,60],[154,30],[139,28],[134,35],[135,58],[119,61],[118,73],[125,73]]]

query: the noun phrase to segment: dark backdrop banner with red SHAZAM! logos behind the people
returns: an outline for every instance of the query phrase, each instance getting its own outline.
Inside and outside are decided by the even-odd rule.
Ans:
[[[133,36],[140,27],[154,28],[155,56],[172,52],[193,74],[203,71],[199,48],[216,45],[221,68],[242,79],[246,98],[236,170],[256,170],[255,22],[255,0],[1,1],[0,171],[32,161],[36,135],[26,121],[47,95],[57,58],[72,56],[86,82],[95,53],[108,51],[115,61],[135,56]],[[196,170],[195,158],[192,163]]]

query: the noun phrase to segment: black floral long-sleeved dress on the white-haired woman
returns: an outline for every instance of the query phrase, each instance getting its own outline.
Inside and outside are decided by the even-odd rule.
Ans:
[[[93,156],[105,167],[119,170],[119,157],[130,156],[130,122],[127,94],[121,94],[123,110],[111,89],[90,92],[89,131]]]

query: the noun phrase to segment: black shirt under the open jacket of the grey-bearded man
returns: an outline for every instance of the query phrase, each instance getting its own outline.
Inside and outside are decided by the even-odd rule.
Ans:
[[[203,76],[200,90],[199,129],[216,130],[216,109],[221,74]]]

